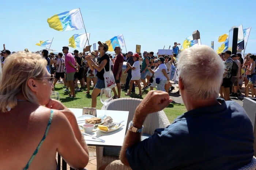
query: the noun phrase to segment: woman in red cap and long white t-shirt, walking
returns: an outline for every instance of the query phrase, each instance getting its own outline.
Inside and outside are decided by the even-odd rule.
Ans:
[[[139,88],[139,96],[142,96],[142,91],[141,91],[141,86],[140,86],[140,62],[139,62],[139,55],[138,54],[134,54],[132,55],[133,57],[133,61],[134,64],[133,66],[130,65],[130,63],[127,63],[127,69],[125,70],[125,73],[131,69],[132,70],[132,79],[130,81],[130,87],[129,87],[129,91],[127,94],[125,94],[126,96],[131,95],[131,91],[132,91],[132,84],[134,82],[136,82],[136,84],[138,85]]]

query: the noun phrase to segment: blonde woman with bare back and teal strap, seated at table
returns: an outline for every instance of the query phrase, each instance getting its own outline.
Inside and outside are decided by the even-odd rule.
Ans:
[[[56,151],[75,169],[83,169],[89,161],[74,114],[50,99],[53,78],[46,65],[45,58],[25,51],[6,59],[0,82],[0,165],[4,169],[56,170]]]

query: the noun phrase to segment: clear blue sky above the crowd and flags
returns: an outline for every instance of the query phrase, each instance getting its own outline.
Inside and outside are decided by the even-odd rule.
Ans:
[[[56,31],[46,20],[80,8],[86,31],[91,33],[90,44],[123,34],[127,51],[135,52],[139,44],[142,51],[157,52],[163,46],[173,46],[174,41],[182,45],[198,29],[202,44],[210,46],[214,41],[216,51],[222,44],[218,37],[228,33],[232,26],[243,24],[244,28],[252,27],[246,53],[256,53],[255,0],[9,0],[0,5],[0,49],[5,43],[10,51],[41,50],[44,47],[35,44],[54,37],[51,48],[60,52],[72,35],[84,33],[84,29]]]

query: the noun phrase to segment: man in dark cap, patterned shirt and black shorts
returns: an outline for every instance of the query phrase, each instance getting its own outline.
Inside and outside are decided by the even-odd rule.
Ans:
[[[225,69],[227,69],[227,74],[223,78],[223,82],[221,84],[221,88],[223,91],[224,99],[230,100],[229,94],[230,94],[230,85],[231,85],[231,70],[233,66],[233,60],[230,58],[231,51],[227,50],[224,53],[224,64],[225,64]]]

